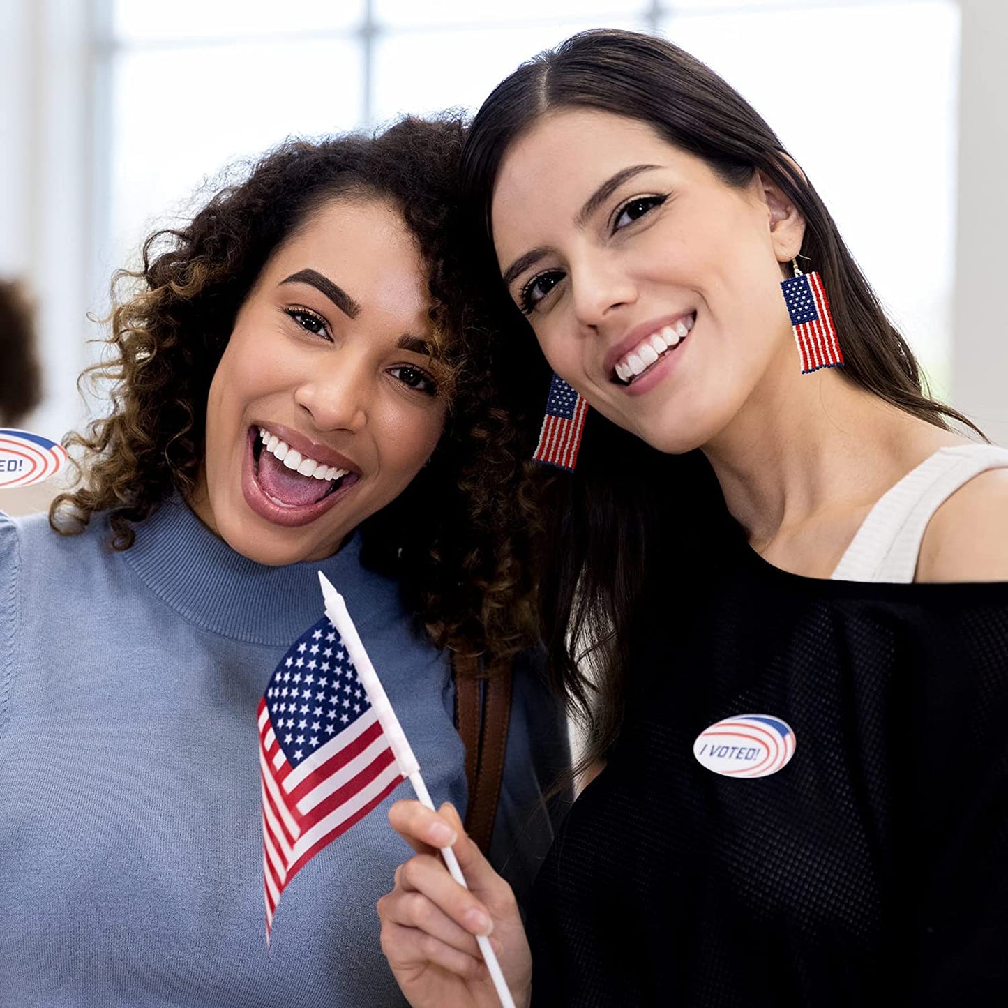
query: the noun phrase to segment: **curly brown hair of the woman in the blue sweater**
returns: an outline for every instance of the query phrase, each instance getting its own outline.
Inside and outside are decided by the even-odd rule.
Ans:
[[[464,137],[463,122],[449,116],[407,118],[376,137],[288,140],[185,227],[152,234],[142,268],[113,280],[109,359],[82,376],[111,383],[112,409],[66,438],[79,457],[78,485],[53,501],[53,529],[74,534],[107,513],[112,547],[128,549],[159,502],[174,491],[192,495],[210,383],[263,267],[334,199],[380,199],[402,214],[427,264],[434,355],[450,375],[451,408],[430,463],[362,524],[362,559],[398,580],[435,645],[484,655],[488,674],[529,646],[535,522],[519,492],[514,424],[495,405],[495,341],[482,328],[488,317],[471,296],[457,241]],[[116,300],[124,282],[140,289]]]

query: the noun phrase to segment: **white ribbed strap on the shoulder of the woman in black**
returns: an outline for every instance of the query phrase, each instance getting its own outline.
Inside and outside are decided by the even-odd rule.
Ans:
[[[934,512],[975,476],[1000,468],[1008,468],[1008,449],[996,445],[939,449],[879,499],[833,580],[909,584]]]

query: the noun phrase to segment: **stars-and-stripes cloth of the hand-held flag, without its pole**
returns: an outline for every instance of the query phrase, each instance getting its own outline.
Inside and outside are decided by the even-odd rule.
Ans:
[[[403,779],[328,618],[294,641],[259,702],[266,936],[307,861]]]

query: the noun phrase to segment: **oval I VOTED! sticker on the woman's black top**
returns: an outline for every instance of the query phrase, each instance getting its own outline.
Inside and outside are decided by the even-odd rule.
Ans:
[[[740,714],[705,729],[694,756],[708,770],[726,777],[769,777],[794,755],[794,732],[780,718]]]

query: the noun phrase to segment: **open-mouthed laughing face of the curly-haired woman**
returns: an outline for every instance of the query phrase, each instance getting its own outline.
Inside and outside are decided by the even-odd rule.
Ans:
[[[192,505],[262,563],[317,560],[433,452],[427,271],[384,202],[328,204],[281,245],[235,320],[207,404]]]

